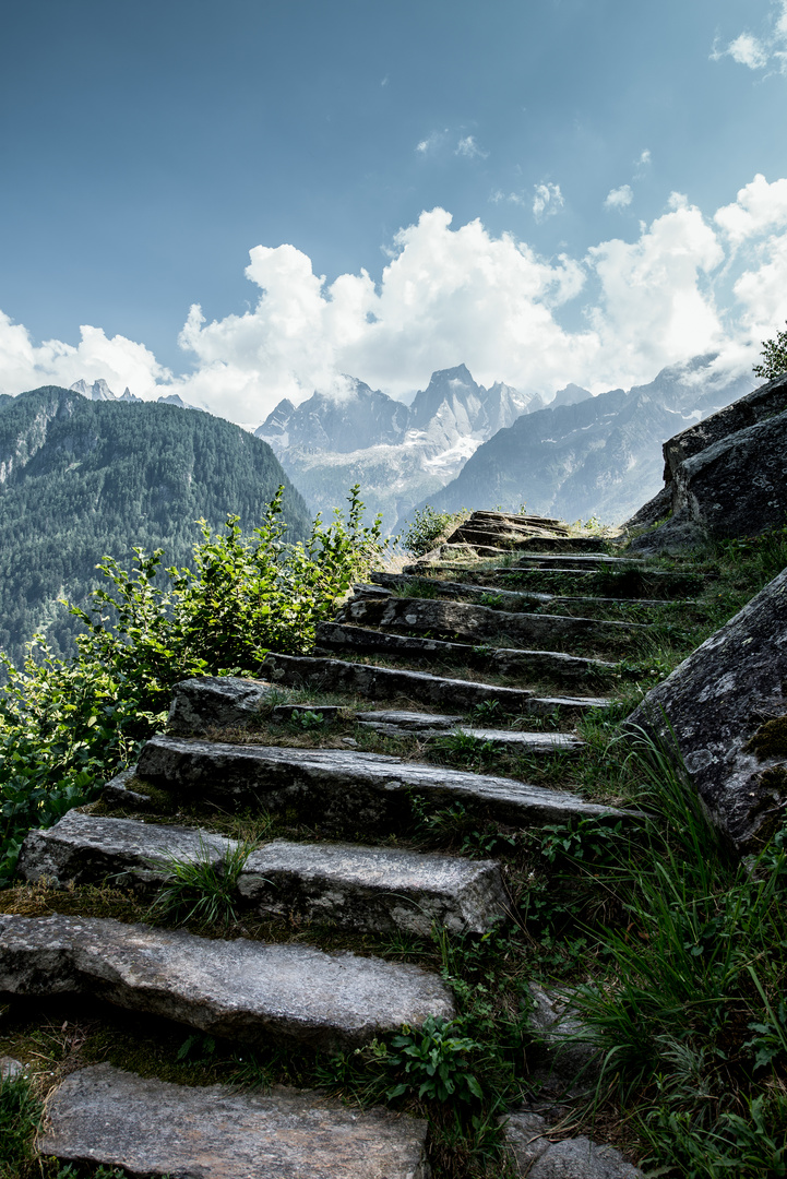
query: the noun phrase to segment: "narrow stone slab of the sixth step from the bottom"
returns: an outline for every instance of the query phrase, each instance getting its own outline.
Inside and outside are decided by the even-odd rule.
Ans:
[[[501,712],[516,714],[527,711],[528,702],[534,694],[523,687],[496,687],[494,684],[449,679],[423,671],[376,667],[371,664],[310,656],[269,656],[264,666],[271,679],[293,687],[353,692],[368,700],[404,697],[418,704],[461,709],[463,712],[469,712],[487,700],[497,700]]]

